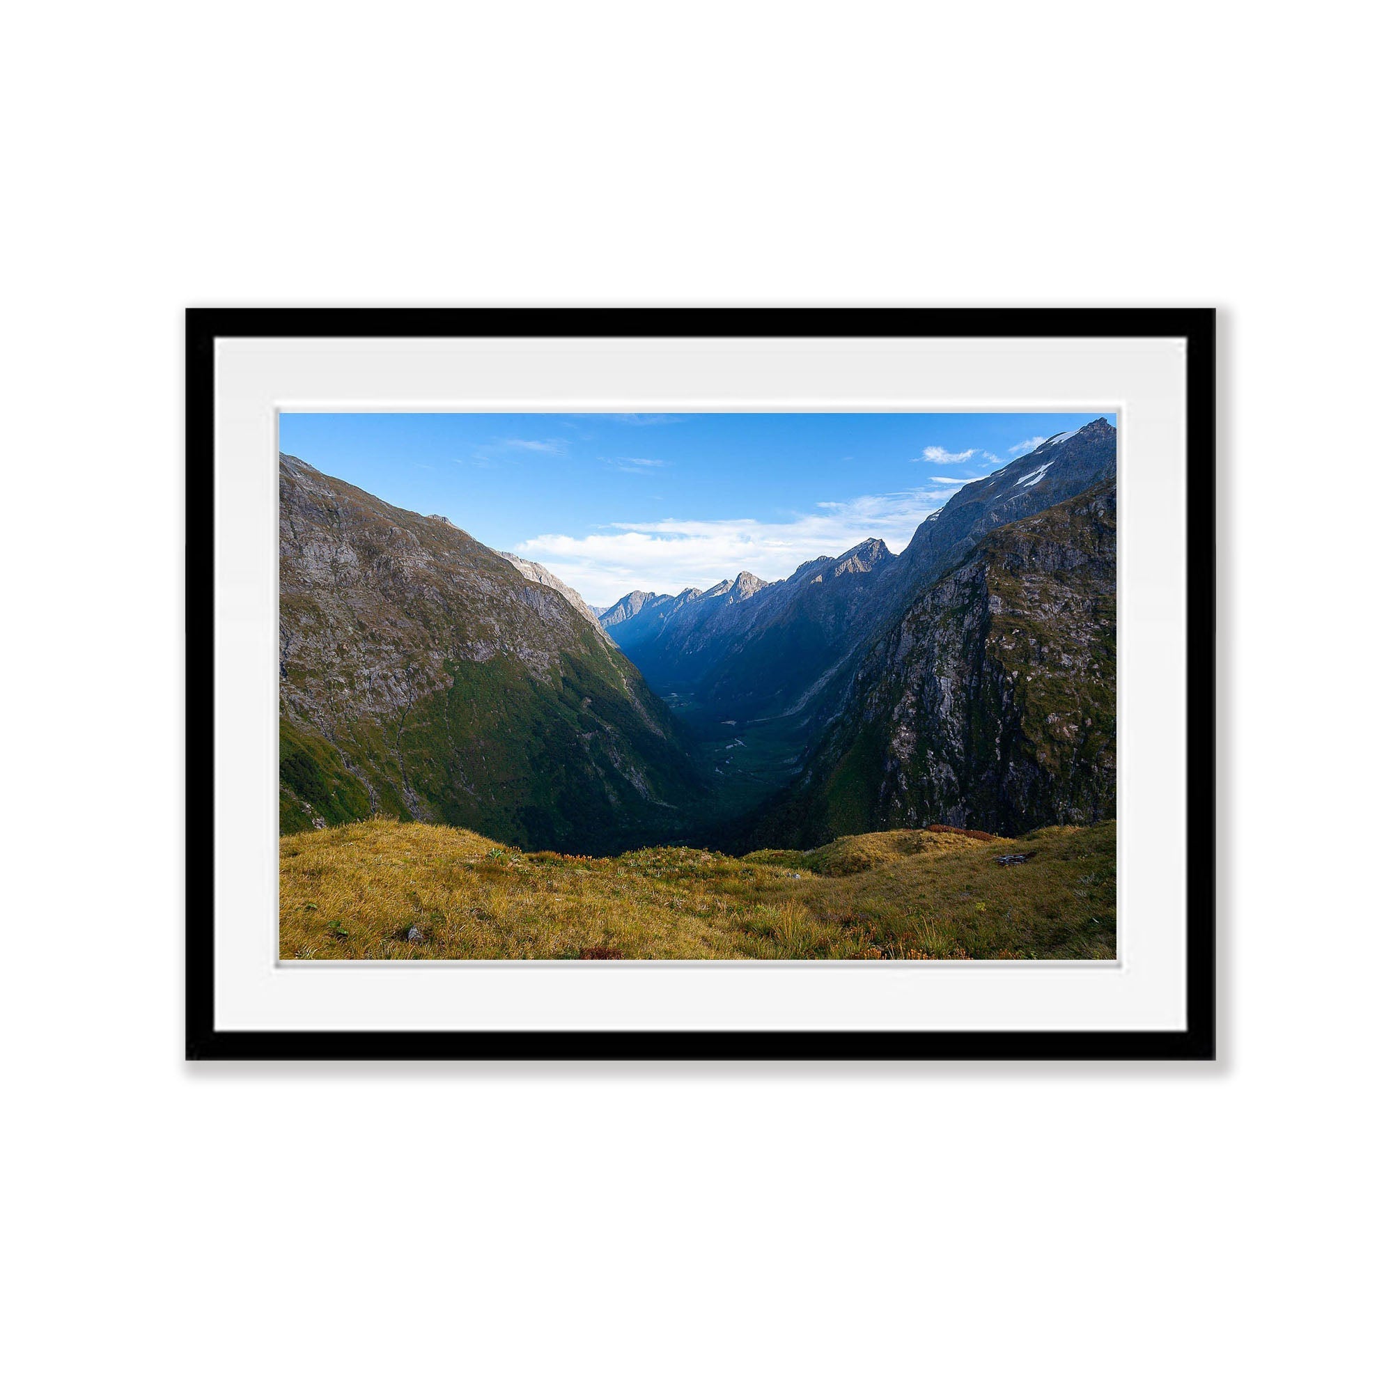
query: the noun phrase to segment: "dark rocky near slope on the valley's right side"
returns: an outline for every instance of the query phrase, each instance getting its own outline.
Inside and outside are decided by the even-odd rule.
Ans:
[[[1116,816],[1116,508],[1109,478],[996,528],[914,595],[744,840]]]

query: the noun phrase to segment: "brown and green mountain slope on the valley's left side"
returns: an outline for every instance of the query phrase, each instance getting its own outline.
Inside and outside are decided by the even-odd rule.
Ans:
[[[554,585],[288,456],[280,678],[284,832],[383,811],[599,854],[701,795],[663,703]]]

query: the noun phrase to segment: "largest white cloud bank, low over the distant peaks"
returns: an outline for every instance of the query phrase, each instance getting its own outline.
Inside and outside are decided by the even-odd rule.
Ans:
[[[960,482],[960,481],[954,481]],[[816,513],[784,522],[755,518],[662,518],[612,522],[588,536],[545,534],[508,547],[540,561],[592,605],[613,605],[630,591],[676,595],[709,589],[752,571],[766,581],[791,575],[816,556],[840,556],[868,536],[900,552],[914,529],[954,489],[907,489],[819,503]]]

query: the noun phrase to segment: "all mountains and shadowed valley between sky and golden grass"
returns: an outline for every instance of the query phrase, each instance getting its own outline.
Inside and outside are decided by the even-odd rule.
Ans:
[[[281,457],[283,830],[808,847],[1116,815],[1116,432],[974,481],[898,554],[589,606]]]

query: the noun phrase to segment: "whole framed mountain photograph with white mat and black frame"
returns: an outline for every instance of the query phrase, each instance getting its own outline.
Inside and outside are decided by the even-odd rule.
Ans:
[[[1213,1059],[1212,311],[187,365],[189,1059]]]

